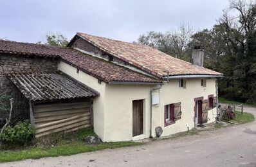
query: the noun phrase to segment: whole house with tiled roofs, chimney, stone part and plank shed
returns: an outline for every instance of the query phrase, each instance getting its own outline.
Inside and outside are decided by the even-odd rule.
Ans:
[[[217,116],[223,75],[203,67],[203,49],[192,59],[85,33],[66,48],[0,40],[0,84],[24,94],[37,137],[88,125],[102,141],[168,136]]]

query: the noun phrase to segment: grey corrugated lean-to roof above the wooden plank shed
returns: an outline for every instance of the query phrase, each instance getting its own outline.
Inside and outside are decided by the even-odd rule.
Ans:
[[[97,96],[98,92],[63,73],[20,73],[8,78],[31,101]]]

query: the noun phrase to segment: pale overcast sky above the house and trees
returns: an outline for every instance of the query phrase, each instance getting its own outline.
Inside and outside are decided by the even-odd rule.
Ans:
[[[0,38],[44,40],[46,33],[75,33],[133,42],[147,31],[176,29],[181,22],[211,28],[228,0],[0,0]]]

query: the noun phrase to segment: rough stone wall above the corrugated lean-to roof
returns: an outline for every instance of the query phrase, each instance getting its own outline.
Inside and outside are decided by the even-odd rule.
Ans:
[[[57,58],[32,57],[0,53],[0,93],[12,89],[5,75],[9,73],[29,73],[36,71],[57,71]]]

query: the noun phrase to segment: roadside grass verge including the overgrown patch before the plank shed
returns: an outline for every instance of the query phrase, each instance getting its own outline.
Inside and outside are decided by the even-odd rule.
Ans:
[[[61,136],[61,135],[60,135]],[[32,146],[30,148],[19,148],[0,151],[0,163],[10,161],[21,161],[24,159],[40,159],[42,157],[58,157],[74,155],[83,152],[94,152],[97,150],[120,148],[124,146],[135,146],[141,143],[133,141],[100,143],[99,145],[86,145],[82,139],[86,136],[96,136],[91,128],[83,128],[77,133],[69,134],[65,139],[57,139],[47,146]],[[58,137],[57,135],[52,136]],[[51,138],[51,137],[50,137]]]

